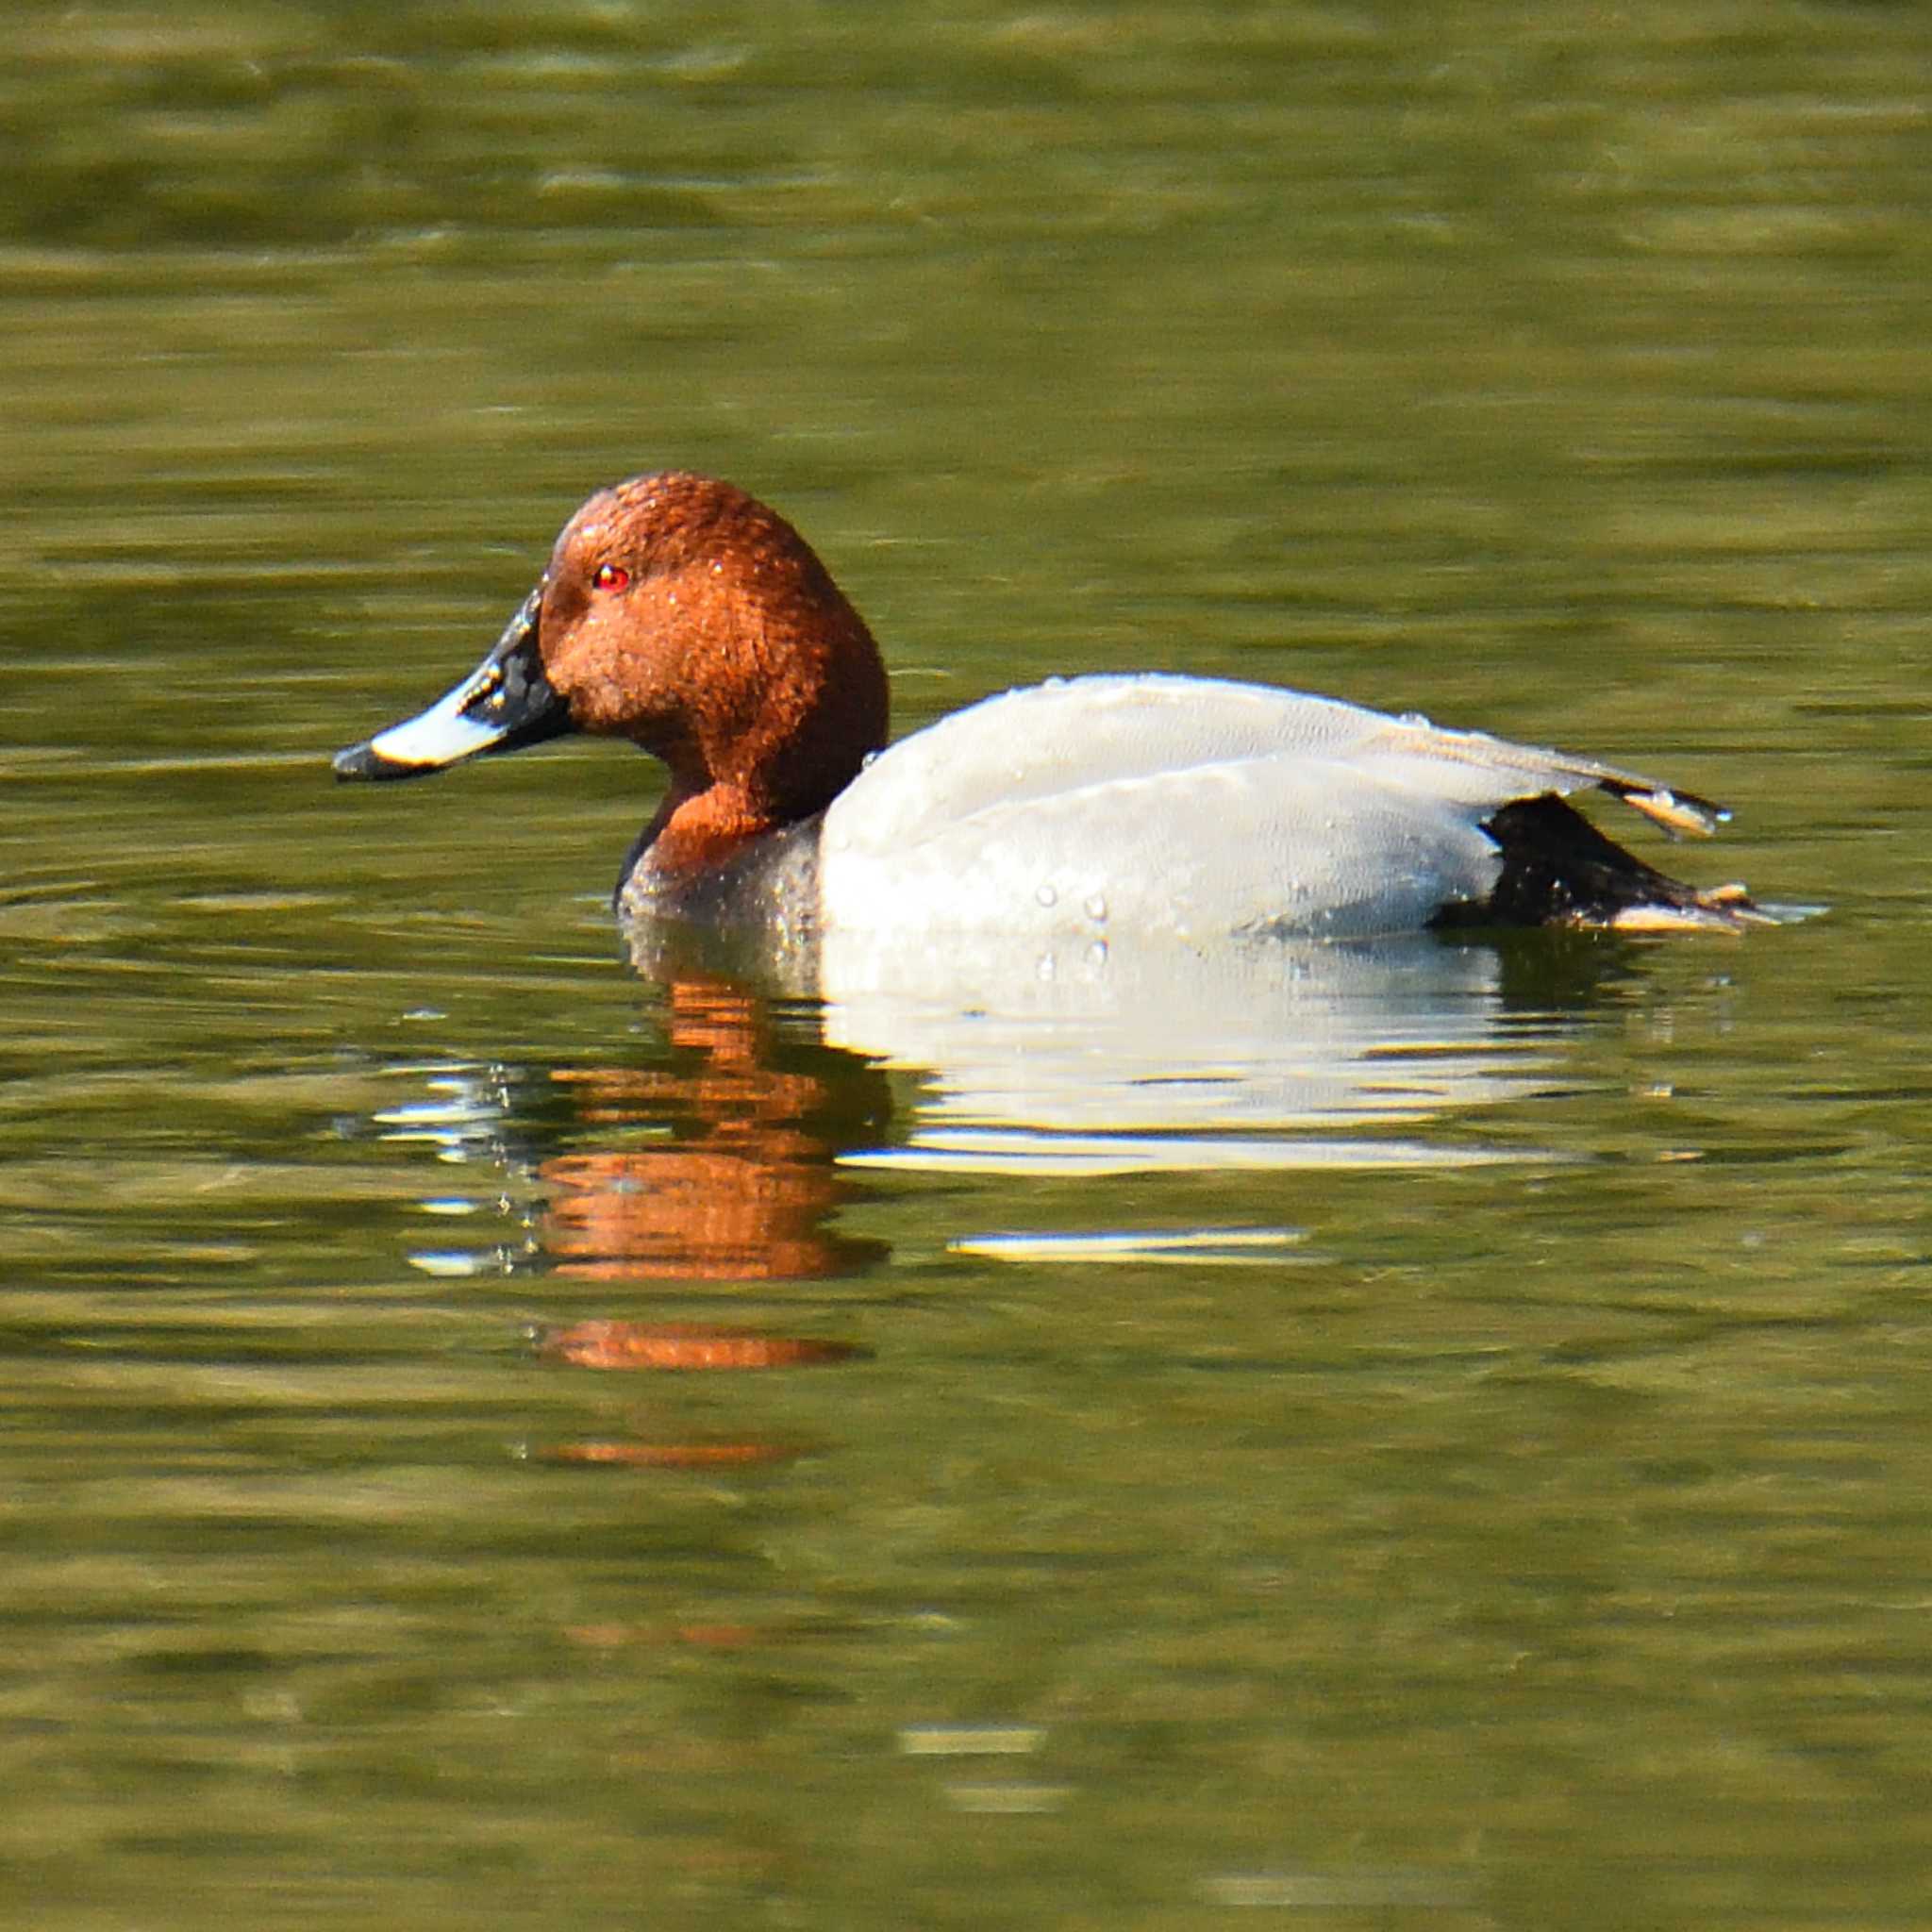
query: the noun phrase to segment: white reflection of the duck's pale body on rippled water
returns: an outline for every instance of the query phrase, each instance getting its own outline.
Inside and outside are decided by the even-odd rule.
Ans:
[[[1459,1167],[1540,1150],[1389,1138],[1540,1084],[1497,956],[1428,935],[1364,945],[929,949],[829,937],[825,1039],[925,1074],[906,1132],[860,1167],[1109,1175]]]

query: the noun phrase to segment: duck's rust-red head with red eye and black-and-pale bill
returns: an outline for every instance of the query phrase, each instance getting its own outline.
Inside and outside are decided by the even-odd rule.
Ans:
[[[705,864],[831,804],[885,726],[877,645],[804,537],[730,483],[665,471],[591,497],[483,663],[334,771],[415,779],[570,730],[630,738],[670,767],[647,837]]]

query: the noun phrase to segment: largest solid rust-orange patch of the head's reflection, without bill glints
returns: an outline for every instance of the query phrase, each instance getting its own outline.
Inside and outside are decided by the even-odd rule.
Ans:
[[[674,981],[667,999],[670,1045],[696,1065],[551,1076],[574,1090],[585,1122],[676,1126],[665,1146],[543,1163],[543,1246],[556,1271],[587,1281],[808,1281],[873,1262],[875,1242],[823,1225],[840,1196],[835,1150],[810,1124],[827,1111],[827,1086],[815,1072],[773,1065],[763,1001],[711,980]]]

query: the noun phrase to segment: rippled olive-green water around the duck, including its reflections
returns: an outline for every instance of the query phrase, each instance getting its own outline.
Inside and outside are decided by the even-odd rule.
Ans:
[[[1915,12],[0,50],[10,1918],[1924,1922]],[[639,978],[645,761],[327,755],[663,464],[898,728],[1335,690],[1830,912]]]

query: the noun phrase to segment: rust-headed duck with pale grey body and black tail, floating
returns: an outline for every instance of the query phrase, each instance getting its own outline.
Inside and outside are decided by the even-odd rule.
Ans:
[[[668,775],[618,877],[630,923],[1198,945],[1768,920],[1571,804],[1600,792],[1675,837],[1729,817],[1708,798],[1283,686],[1049,678],[895,744],[885,661],[810,543],[682,469],[597,491],[483,663],[334,773],[413,779],[564,732]]]

